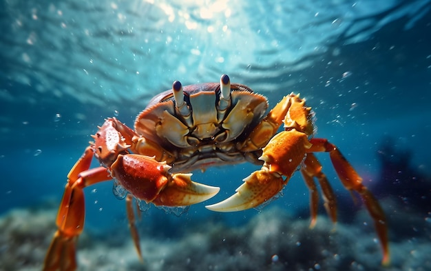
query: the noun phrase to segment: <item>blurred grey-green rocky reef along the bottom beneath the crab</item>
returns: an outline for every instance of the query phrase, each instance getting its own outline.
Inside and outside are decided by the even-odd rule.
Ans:
[[[12,210],[1,217],[0,270],[41,269],[54,232],[55,212]],[[240,227],[210,219],[196,221],[175,239],[141,232],[144,263],[138,260],[127,228],[103,234],[86,230],[78,245],[79,270],[431,269],[429,222],[424,222],[428,232],[420,228],[423,235],[390,243],[389,268],[380,265],[379,244],[364,212],[350,225],[333,225],[326,217],[319,217],[314,229],[308,223],[280,208],[268,208]]]

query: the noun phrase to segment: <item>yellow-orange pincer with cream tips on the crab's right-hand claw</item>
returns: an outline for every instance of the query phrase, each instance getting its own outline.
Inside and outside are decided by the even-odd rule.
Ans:
[[[255,208],[274,197],[285,184],[279,174],[269,172],[266,168],[253,172],[243,181],[244,183],[231,197],[205,207],[215,212],[235,212]]]

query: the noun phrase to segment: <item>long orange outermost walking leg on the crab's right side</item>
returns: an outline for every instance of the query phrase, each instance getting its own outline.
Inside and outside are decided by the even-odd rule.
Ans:
[[[362,184],[362,178],[359,177],[359,174],[357,174],[352,165],[348,163],[335,145],[330,143],[327,139],[311,139],[310,142],[313,146],[308,149],[307,152],[329,152],[330,160],[334,165],[341,183],[343,183],[347,190],[357,192],[362,201],[364,201],[370,216],[374,220],[377,235],[383,250],[383,259],[381,262],[383,265],[388,265],[390,262],[388,227],[385,214],[381,209],[379,201],[377,201],[370,190]]]

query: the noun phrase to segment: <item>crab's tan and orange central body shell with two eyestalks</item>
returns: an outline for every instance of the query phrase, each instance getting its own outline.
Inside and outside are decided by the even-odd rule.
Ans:
[[[263,163],[257,159],[260,148],[244,151],[244,145],[264,118],[268,102],[247,86],[226,79],[226,83],[222,77],[220,84],[185,87],[176,81],[172,90],[154,97],[136,118],[136,132],[145,142],[159,146],[162,155],[156,155],[156,160],[168,161],[171,172]]]

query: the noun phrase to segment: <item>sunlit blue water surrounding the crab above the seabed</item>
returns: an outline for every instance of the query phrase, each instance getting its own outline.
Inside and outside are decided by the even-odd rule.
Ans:
[[[300,92],[315,112],[316,137],[335,143],[377,197],[410,197],[414,192],[392,189],[397,177],[381,181],[379,151],[392,140],[392,150],[410,153],[410,178],[425,176],[417,195],[430,202],[430,1],[152,2],[0,1],[0,214],[58,204],[67,172],[105,118],[132,127],[172,81],[213,82],[221,74],[264,94],[271,106]],[[317,157],[348,199],[328,156]],[[207,201],[216,203],[257,168],[209,168],[192,179],[220,186]],[[87,228],[127,228],[125,202],[111,182],[86,188],[85,197]],[[145,219],[188,225],[214,215],[204,205],[179,218],[151,208]],[[300,174],[271,205],[308,219]],[[341,207],[346,217],[349,208]],[[429,221],[430,205],[417,209]],[[257,214],[217,216],[237,226]],[[351,222],[343,213],[339,219]]]

